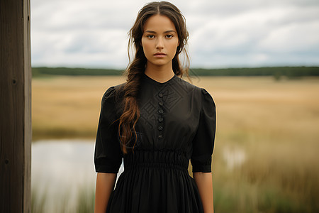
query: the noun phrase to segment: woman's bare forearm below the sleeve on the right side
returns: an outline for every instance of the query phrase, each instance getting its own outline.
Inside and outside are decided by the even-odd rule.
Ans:
[[[193,173],[193,176],[201,196],[204,212],[213,213],[213,180],[211,173]]]

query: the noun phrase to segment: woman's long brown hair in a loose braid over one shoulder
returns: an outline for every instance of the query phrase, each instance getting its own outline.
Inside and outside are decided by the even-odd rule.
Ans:
[[[172,60],[172,68],[175,75],[182,77],[186,74],[189,77],[189,56],[186,51],[186,43],[189,39],[189,33],[186,30],[185,18],[181,14],[181,11],[167,1],[153,1],[145,4],[142,9],[138,12],[138,17],[133,27],[128,32],[128,56],[130,58],[130,48],[135,49],[135,57],[133,61],[130,60],[128,67],[125,70],[127,80],[124,86],[124,99],[123,99],[123,114],[120,117],[118,124],[118,134],[121,140],[121,146],[123,153],[128,153],[126,145],[135,134],[136,142],[136,131],[135,124],[140,118],[140,109],[138,108],[138,92],[140,87],[140,79],[143,72],[145,72],[145,66],[147,58],[144,55],[142,48],[142,35],[144,33],[144,25],[147,18],[154,15],[167,16],[173,23],[177,30],[179,37],[179,46],[177,47],[176,55]],[[179,53],[184,52],[184,64],[182,65],[179,60]],[[133,132],[133,133],[132,133]],[[134,143],[135,145],[135,143]],[[133,146],[134,147],[134,146]]]

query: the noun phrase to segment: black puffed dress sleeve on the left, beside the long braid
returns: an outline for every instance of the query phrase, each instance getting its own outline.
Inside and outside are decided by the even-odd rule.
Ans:
[[[96,173],[118,173],[123,153],[118,141],[115,88],[103,95],[99,125],[96,133],[94,164]]]

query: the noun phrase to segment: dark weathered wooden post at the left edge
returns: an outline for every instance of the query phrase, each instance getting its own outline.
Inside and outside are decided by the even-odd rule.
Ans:
[[[30,0],[0,1],[0,212],[31,212]]]

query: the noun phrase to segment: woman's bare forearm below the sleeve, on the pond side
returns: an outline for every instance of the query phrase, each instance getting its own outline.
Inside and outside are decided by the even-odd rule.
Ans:
[[[108,199],[113,192],[116,173],[97,173],[94,212],[106,212]]]

